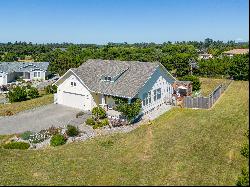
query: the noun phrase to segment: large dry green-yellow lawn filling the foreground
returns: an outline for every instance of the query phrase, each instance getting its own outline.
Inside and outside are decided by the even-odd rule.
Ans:
[[[211,110],[172,109],[127,134],[39,151],[0,149],[0,184],[235,185],[246,164],[248,87],[233,82]]]

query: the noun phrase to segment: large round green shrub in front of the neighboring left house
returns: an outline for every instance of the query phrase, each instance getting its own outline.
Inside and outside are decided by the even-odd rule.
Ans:
[[[25,101],[27,99],[27,92],[25,87],[17,86],[9,91],[7,97],[11,103]]]

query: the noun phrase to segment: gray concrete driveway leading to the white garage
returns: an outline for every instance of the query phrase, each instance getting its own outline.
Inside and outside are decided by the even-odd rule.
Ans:
[[[52,125],[56,127],[67,124],[80,125],[89,114],[76,118],[79,111],[63,105],[50,104],[14,116],[0,117],[0,134],[21,133],[27,130],[38,132]]]

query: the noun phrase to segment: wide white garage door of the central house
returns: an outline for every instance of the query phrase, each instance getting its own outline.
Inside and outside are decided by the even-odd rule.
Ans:
[[[61,103],[63,105],[78,108],[81,110],[89,110],[90,109],[90,101],[89,98],[85,95],[74,94],[69,92],[62,93]]]

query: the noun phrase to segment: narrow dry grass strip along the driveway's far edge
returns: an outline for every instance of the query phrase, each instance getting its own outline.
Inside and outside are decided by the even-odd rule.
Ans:
[[[53,103],[53,95],[44,95],[36,99],[31,99],[23,102],[16,102],[12,104],[0,104],[0,116],[4,116],[6,111],[11,111],[13,114],[29,110],[42,105]]]

